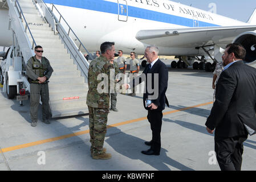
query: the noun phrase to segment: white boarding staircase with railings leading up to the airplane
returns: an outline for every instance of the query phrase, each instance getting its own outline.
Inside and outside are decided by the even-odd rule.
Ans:
[[[50,61],[51,67],[54,69],[48,84],[52,117],[88,113],[86,96],[89,64],[80,48],[83,47],[86,51],[87,49],[74,31],[54,5],[50,9],[42,0],[36,2],[34,0],[7,0],[7,2],[13,31],[18,39],[25,62],[27,63],[29,57],[34,55],[32,48],[40,45],[44,50],[43,56]],[[57,12],[55,14],[53,13],[54,9]],[[60,19],[65,25],[60,23]],[[18,21],[22,22],[19,24],[23,27],[17,26]],[[20,31],[21,29],[23,31]],[[76,46],[70,32],[79,40],[80,46]],[[19,40],[19,36],[25,36],[26,39]],[[29,46],[24,46],[26,40]]]

